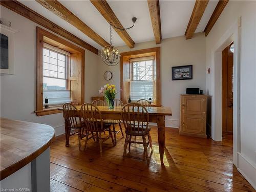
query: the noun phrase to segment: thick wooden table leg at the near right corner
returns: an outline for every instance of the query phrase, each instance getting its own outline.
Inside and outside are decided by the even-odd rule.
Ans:
[[[161,161],[161,164],[163,164],[164,145],[165,145],[164,115],[157,116],[157,127],[158,127],[158,146],[159,146],[160,161]]]

